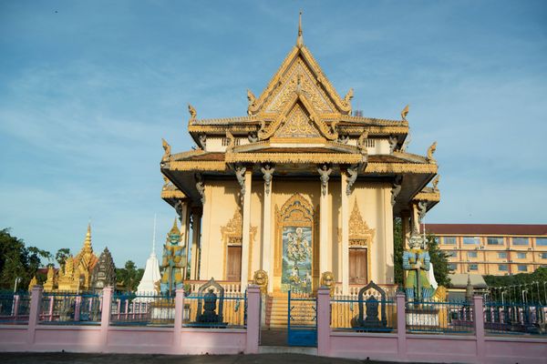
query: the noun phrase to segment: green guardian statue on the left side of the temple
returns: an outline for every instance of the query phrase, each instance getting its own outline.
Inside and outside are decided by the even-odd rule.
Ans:
[[[160,289],[163,294],[172,295],[175,289],[182,288],[181,268],[184,268],[184,248],[179,245],[181,240],[181,231],[177,227],[177,218],[175,218],[163,246],[161,260],[163,272],[160,280]]]

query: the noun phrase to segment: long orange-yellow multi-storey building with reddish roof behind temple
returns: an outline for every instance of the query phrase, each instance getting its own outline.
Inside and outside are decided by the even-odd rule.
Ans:
[[[503,276],[547,267],[547,225],[428,224],[454,273]]]

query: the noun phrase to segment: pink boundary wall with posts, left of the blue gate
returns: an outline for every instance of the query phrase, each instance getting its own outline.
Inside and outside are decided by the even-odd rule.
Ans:
[[[174,328],[109,326],[112,289],[103,291],[99,326],[37,325],[42,288],[32,290],[28,325],[0,325],[1,351],[72,351],[146,354],[258,353],[260,289],[249,287],[246,329],[182,328],[184,292],[175,297]]]

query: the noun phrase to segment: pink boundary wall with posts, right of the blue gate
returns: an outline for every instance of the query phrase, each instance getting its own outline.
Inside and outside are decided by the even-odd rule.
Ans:
[[[473,302],[482,312],[482,298]],[[475,319],[475,335],[407,334],[405,296],[397,295],[397,333],[335,332],[330,328],[327,288],[317,292],[317,354],[325,357],[459,363],[547,363],[547,339],[485,337],[484,317]],[[402,314],[400,314],[402,313]]]

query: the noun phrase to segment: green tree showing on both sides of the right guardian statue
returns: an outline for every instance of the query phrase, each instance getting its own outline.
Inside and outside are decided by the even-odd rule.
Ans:
[[[403,251],[405,247],[402,230],[402,221],[397,217],[393,224],[393,264],[395,283],[400,286],[403,285],[405,275],[405,270],[403,269]],[[439,286],[449,287],[449,273],[451,273],[449,269],[449,256],[439,249],[439,244],[433,234],[428,234],[426,240],[428,241],[429,257],[433,264],[435,280],[437,280]]]

